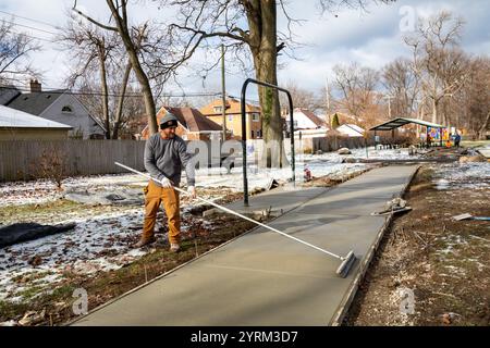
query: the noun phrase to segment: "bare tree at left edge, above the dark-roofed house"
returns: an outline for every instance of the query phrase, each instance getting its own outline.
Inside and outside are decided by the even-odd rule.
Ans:
[[[32,67],[29,54],[40,50],[36,39],[14,30],[13,24],[0,23],[0,82],[25,83],[27,77],[39,76]]]

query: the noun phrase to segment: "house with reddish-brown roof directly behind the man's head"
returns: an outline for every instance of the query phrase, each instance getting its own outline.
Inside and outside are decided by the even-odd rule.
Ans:
[[[222,138],[222,128],[215,122],[206,119],[197,109],[163,107],[157,113],[157,124],[171,112],[179,120],[175,134],[184,140],[217,140]],[[142,132],[142,138],[149,138],[149,129],[146,126]]]

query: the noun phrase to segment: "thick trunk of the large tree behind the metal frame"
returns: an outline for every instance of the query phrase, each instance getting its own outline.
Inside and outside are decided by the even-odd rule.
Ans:
[[[278,85],[277,75],[277,3],[275,0],[262,0],[256,3],[259,8],[260,37],[256,44],[252,42],[256,78],[258,80]],[[289,165],[284,151],[282,119],[277,89],[258,86],[259,101],[262,111],[262,138],[265,151],[261,166],[284,167]]]

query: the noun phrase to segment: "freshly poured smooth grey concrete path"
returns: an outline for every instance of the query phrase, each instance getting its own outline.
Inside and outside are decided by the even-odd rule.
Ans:
[[[415,170],[373,170],[319,191],[270,225],[341,256],[354,250],[363,260],[385,222],[370,213],[399,196]],[[340,278],[335,275],[340,262],[259,228],[89,313],[75,325],[328,325],[360,263]]]

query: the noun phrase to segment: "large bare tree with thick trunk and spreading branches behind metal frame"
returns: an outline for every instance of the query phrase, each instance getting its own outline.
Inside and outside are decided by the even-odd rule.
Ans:
[[[246,49],[255,70],[255,77],[272,85],[278,84],[278,54],[287,52],[294,44],[292,23],[294,20],[283,0],[160,0],[163,4],[177,5],[180,22],[169,26],[171,44],[181,44],[182,58],[175,63],[187,61],[199,46],[208,45],[213,38],[220,38],[229,48],[236,51]],[[332,4],[339,7],[364,7],[368,0],[320,1],[324,11]],[[381,1],[388,2],[388,1]],[[278,9],[287,20],[287,33],[278,30]],[[240,57],[240,55],[237,55]],[[242,54],[243,57],[243,54]],[[249,55],[245,55],[249,57]],[[258,87],[262,111],[264,139],[274,144],[272,152],[265,153],[267,165],[271,165],[272,156],[279,160],[277,166],[283,166],[287,160],[283,151],[282,121],[279,96],[275,89]],[[272,154],[274,153],[274,154]]]

